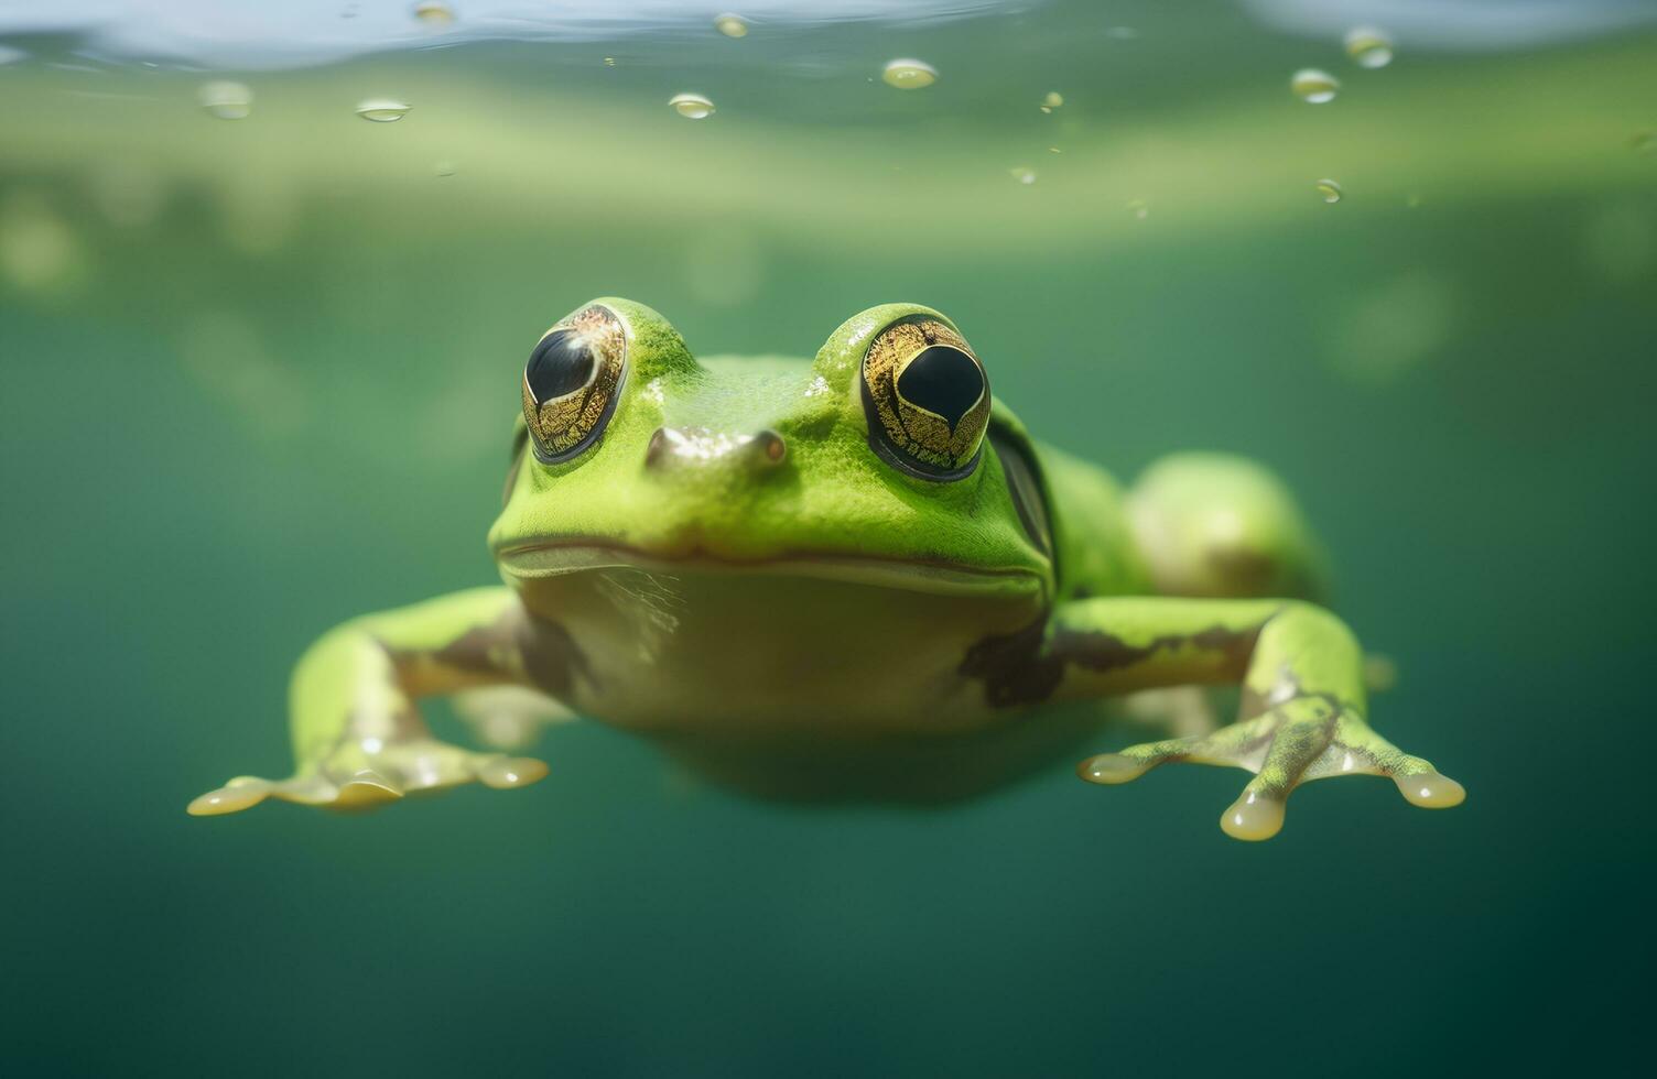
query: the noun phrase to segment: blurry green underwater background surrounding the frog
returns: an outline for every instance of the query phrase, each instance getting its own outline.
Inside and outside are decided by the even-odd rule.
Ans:
[[[1654,5],[204,7],[0,3],[8,1074],[1630,1066]],[[577,725],[529,793],[186,818],[287,770],[310,639],[494,579],[520,364],[597,295],[704,354],[915,300],[1123,477],[1269,462],[1466,804],[802,811]]]

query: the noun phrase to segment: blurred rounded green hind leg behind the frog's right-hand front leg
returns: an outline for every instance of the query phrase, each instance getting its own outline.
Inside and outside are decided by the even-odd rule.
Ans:
[[[1128,515],[1155,591],[1213,599],[1327,599],[1322,548],[1271,472],[1223,453],[1150,465]]]

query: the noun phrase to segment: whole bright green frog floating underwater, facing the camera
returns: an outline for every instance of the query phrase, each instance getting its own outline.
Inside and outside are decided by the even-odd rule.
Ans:
[[[1311,779],[1461,803],[1370,727],[1365,652],[1273,472],[1180,452],[1118,483],[1036,440],[991,366],[913,303],[812,359],[698,357],[648,306],[580,305],[514,367],[500,583],[328,631],[292,675],[293,773],[187,811],[525,788],[548,766],[522,751],[575,717],[741,794],[949,804],[1097,748],[1105,705],[1158,693],[1190,722],[1082,779],[1241,768],[1220,818],[1241,841]],[[1231,722],[1173,708],[1191,692],[1229,693]],[[476,746],[432,733],[432,697]]]

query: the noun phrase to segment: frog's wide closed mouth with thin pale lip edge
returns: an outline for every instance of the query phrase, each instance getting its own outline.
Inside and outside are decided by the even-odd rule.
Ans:
[[[1024,566],[968,566],[949,561],[882,558],[847,551],[782,551],[756,558],[716,554],[704,548],[645,551],[601,540],[543,540],[495,551],[509,578],[553,578],[592,569],[631,568],[664,574],[784,576],[845,581],[933,594],[1041,596],[1046,578]]]

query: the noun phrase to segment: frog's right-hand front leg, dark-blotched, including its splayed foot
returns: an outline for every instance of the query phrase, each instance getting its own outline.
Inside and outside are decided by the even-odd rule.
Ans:
[[[1269,839],[1307,779],[1390,776],[1410,803],[1460,804],[1465,793],[1425,760],[1370,730],[1364,652],[1341,619],[1301,601],[1084,599],[1062,606],[1026,665],[1002,667],[1002,693],[1114,695],[1158,685],[1241,683],[1241,715],[1211,735],[1170,738],[1082,761],[1094,783],[1127,783],[1157,765],[1246,768],[1254,779],[1220,826]],[[991,695],[996,683],[989,683]]]

